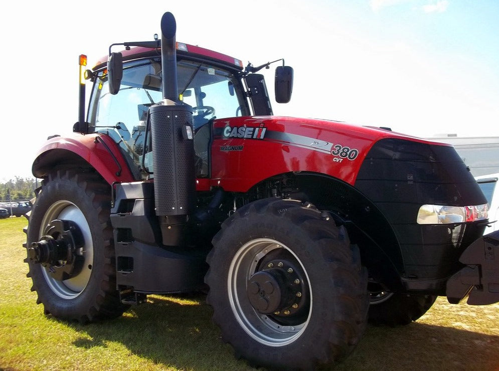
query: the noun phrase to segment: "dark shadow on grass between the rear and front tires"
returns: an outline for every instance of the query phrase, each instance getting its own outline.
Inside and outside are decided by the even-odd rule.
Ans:
[[[109,341],[123,344],[131,353],[165,367],[193,370],[253,370],[234,357],[224,344],[206,295],[149,296],[146,305],[131,307],[124,316],[88,325],[69,324],[87,336],[75,340],[77,347],[107,347]]]

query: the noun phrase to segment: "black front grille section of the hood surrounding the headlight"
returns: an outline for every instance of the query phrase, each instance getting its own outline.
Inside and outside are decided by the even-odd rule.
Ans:
[[[404,259],[404,276],[447,277],[461,264],[462,251],[481,233],[480,223],[418,224],[421,205],[486,203],[453,147],[384,139],[368,153],[355,187],[388,219]]]

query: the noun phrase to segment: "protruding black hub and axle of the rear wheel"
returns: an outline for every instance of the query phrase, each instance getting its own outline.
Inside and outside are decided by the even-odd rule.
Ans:
[[[48,268],[48,273],[58,281],[77,275],[82,268],[83,235],[71,220],[52,220],[45,228],[45,235],[28,248],[28,258]]]

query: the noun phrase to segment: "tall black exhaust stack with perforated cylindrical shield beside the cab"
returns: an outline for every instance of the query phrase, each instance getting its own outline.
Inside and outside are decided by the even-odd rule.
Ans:
[[[193,212],[196,197],[192,107],[179,100],[176,31],[173,14],[163,14],[163,101],[149,108],[155,210],[162,243],[171,246],[184,243],[188,215]]]

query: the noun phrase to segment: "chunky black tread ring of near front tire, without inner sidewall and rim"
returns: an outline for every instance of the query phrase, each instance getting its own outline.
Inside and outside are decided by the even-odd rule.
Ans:
[[[260,366],[262,359],[248,344],[247,348],[239,347],[237,331],[227,330],[227,313],[219,310],[222,306],[217,302],[221,297],[215,290],[224,281],[223,275],[217,267],[221,264],[224,251],[223,238],[231,233],[231,227],[236,222],[245,222],[250,214],[264,218],[265,214],[278,215],[290,222],[289,228],[308,231],[311,245],[317,246],[320,256],[325,263],[331,277],[330,282],[324,285],[335,288],[331,290],[334,297],[334,308],[329,308],[337,313],[334,322],[328,323],[331,327],[326,344],[316,344],[311,354],[289,354],[286,360],[280,359],[277,364],[266,363],[266,366],[277,366],[285,369],[315,369],[318,365],[335,364],[343,360],[359,342],[367,324],[367,309],[369,296],[367,293],[367,270],[360,264],[360,253],[356,245],[351,245],[346,229],[336,226],[334,221],[322,218],[321,212],[311,204],[296,200],[262,199],[255,201],[235,211],[235,213],[222,223],[221,230],[213,239],[214,249],[208,254],[207,262],[210,268],[206,274],[205,282],[210,285],[207,302],[214,309],[213,322],[222,329],[222,338],[231,343],[236,354],[246,358],[252,366]],[[251,234],[251,233],[250,233]],[[331,249],[335,246],[335,249]],[[340,277],[340,279],[335,279]],[[226,278],[225,278],[226,280]],[[217,293],[215,294],[215,291]],[[215,299],[216,298],[216,299]]]

